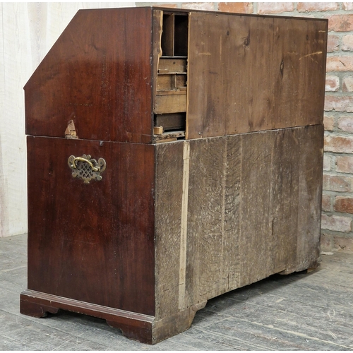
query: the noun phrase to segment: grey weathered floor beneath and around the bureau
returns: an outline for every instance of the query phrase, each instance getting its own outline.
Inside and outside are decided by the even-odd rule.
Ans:
[[[212,299],[189,330],[148,346],[89,316],[21,315],[26,244],[25,235],[0,238],[0,350],[353,350],[352,253]]]

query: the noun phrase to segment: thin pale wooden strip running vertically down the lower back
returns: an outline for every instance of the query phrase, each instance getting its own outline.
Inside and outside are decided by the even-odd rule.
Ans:
[[[183,195],[181,198],[181,232],[180,232],[180,265],[179,265],[179,310],[185,309],[186,285],[186,240],[188,232],[188,198],[189,198],[189,162],[190,143],[184,141],[183,148]]]

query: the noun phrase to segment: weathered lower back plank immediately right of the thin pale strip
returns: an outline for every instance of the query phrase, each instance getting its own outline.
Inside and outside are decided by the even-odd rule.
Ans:
[[[225,291],[222,272],[222,206],[225,182],[225,138],[192,141],[188,217],[187,295],[197,303]]]

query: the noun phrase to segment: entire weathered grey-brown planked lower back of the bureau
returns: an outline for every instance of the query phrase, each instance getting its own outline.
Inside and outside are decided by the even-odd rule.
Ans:
[[[181,167],[180,157],[181,145],[186,144],[190,145],[189,177],[185,175],[185,164]],[[274,273],[317,265],[322,148],[322,125],[163,146],[170,163],[163,162],[167,155],[161,150],[157,157],[161,161],[157,163],[160,182],[156,186],[158,201],[164,193],[168,197],[162,207],[156,208],[163,220],[159,227],[165,229],[157,238],[156,253],[162,251],[167,256],[160,255],[156,276],[162,276],[167,268],[164,278],[170,278],[170,285],[164,292],[164,286],[156,289],[161,313],[177,312],[174,301],[178,293],[178,310],[182,311]],[[185,203],[181,174],[189,180],[186,235],[183,229],[179,235],[179,229],[174,229]],[[162,186],[170,191],[159,190]],[[186,258],[179,251],[185,239]],[[182,268],[184,261],[184,289],[179,283],[173,292],[177,268]],[[181,290],[185,290],[183,305]],[[166,305],[164,309],[159,297]]]

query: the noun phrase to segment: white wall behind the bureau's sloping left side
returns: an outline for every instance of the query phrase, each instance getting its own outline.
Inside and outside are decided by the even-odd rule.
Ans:
[[[27,232],[23,86],[80,8],[135,3],[0,3],[0,237]]]

